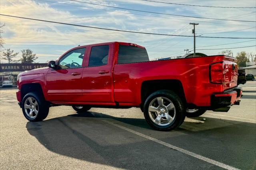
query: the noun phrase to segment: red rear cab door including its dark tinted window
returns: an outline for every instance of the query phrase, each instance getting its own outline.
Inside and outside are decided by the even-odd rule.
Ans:
[[[90,46],[82,74],[83,102],[109,105],[114,103],[111,73],[113,46],[113,43]]]

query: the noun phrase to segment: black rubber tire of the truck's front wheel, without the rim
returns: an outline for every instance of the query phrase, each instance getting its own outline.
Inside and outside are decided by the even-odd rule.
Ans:
[[[25,111],[25,105],[26,105],[25,102],[26,102],[26,99],[28,99],[29,97],[32,97],[38,103],[38,113],[34,118],[29,117]],[[22,100],[22,112],[24,117],[28,119],[28,121],[31,121],[31,122],[42,121],[47,117],[49,113],[49,105],[47,101],[45,101],[42,95],[36,92],[31,92],[26,94]],[[27,109],[27,112],[28,112],[28,109]]]

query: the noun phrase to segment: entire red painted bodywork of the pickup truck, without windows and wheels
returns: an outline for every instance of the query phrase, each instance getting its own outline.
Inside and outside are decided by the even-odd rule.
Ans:
[[[136,45],[110,42],[75,47],[69,51],[86,47],[81,68],[61,70],[44,68],[23,72],[18,76],[18,89],[26,83],[39,83],[46,100],[55,104],[113,106],[118,103],[120,106],[139,107],[144,81],[172,79],[181,82],[187,103],[209,107],[212,94],[221,94],[224,90],[236,87],[238,70],[236,59],[232,57],[216,55],[118,64],[119,44]],[[88,67],[90,50],[98,45],[109,45],[108,63]],[[144,48],[140,45],[136,47]],[[61,57],[56,60],[56,63]],[[222,62],[225,67],[223,68],[224,82],[210,83],[210,65],[218,62]],[[104,71],[103,74],[102,71]],[[71,75],[74,72],[81,74]],[[22,100],[20,96],[18,91],[18,101]]]

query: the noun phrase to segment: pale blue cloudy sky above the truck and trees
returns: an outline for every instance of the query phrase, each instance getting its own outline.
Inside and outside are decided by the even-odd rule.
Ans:
[[[56,1],[57,2],[57,1]],[[198,33],[214,33],[214,32],[226,32],[233,30],[240,30],[248,28],[248,26],[234,26],[228,24],[238,25],[253,25],[250,23],[233,22],[233,21],[218,21],[225,24],[207,23],[202,21],[213,21],[209,19],[196,19],[196,18],[184,18],[167,15],[157,15],[142,12],[134,12],[130,10],[117,10],[114,8],[108,8],[103,6],[96,6],[92,4],[83,4],[79,2],[71,1],[58,1],[60,3],[75,4],[78,6],[68,6],[62,4],[46,3],[42,1],[1,1],[1,14],[9,14],[14,16],[23,16],[28,18],[37,18],[42,20],[50,20],[57,22],[64,22],[70,24],[80,24],[86,26],[96,26],[102,28],[112,28],[120,30],[130,30],[138,32],[151,32],[151,33],[164,33],[174,34],[180,28],[189,24],[190,21],[200,21],[200,25],[196,27]],[[116,0],[114,2],[109,1],[86,1],[95,4],[104,4],[110,6],[120,6],[124,8],[132,8],[138,10],[156,11],[170,14],[191,15],[210,18],[234,18],[234,16],[241,16],[253,12],[248,9],[222,9],[222,8],[200,8],[190,6],[174,6],[168,4],[161,4],[155,2],[145,2],[140,0]],[[191,1],[172,1],[174,3],[191,4]],[[244,2],[244,1],[243,1]],[[232,1],[232,6],[256,6],[254,1]],[[230,1],[222,1],[222,6],[231,6]],[[204,4],[210,6],[220,6],[219,1],[193,1],[193,4]],[[81,7],[80,7],[81,6]],[[151,7],[150,7],[151,6]],[[89,7],[89,8],[88,8]],[[101,10],[91,9],[98,8]],[[24,10],[26,9],[26,10]],[[111,11],[105,11],[111,10]],[[135,14],[142,14],[146,16],[140,16]],[[155,17],[153,17],[155,16]],[[154,36],[146,34],[131,34],[125,32],[115,32],[107,30],[98,30],[92,28],[82,28],[75,26],[66,26],[61,24],[53,24],[39,21],[31,21],[10,17],[1,17],[1,22],[6,23],[5,32],[2,36],[5,38],[6,47],[11,45],[38,45],[38,49],[41,49],[41,45],[54,45],[56,49],[52,51],[52,57],[56,57],[56,51],[61,46],[67,48],[86,45],[92,43],[122,41],[133,42],[140,45],[144,45],[147,48],[152,47],[154,43],[157,43],[158,47],[149,49],[149,54],[156,53],[163,49],[170,47],[169,49],[159,52],[159,56],[168,55],[168,53],[175,53],[183,51],[184,48],[188,48],[192,45],[192,40],[188,39],[182,41],[182,38],[167,39],[167,36]],[[238,18],[239,20],[255,20],[255,15],[246,16],[245,18]],[[188,29],[186,31],[186,29]],[[192,35],[192,26],[186,27],[186,29],[179,32],[182,35]],[[186,31],[186,32],[184,32]],[[8,34],[7,34],[8,33]],[[244,30],[241,32],[234,32],[232,34],[225,34],[228,36],[255,36],[255,29]],[[214,34],[213,34],[214,35]],[[218,34],[214,35],[217,36]],[[219,36],[219,35],[218,35]],[[221,34],[224,36],[224,34]],[[170,40],[170,41],[168,41]],[[231,41],[231,40],[230,40]],[[229,40],[214,40],[214,39],[197,39],[198,45],[215,44],[228,42]],[[232,40],[235,42],[235,40]],[[162,45],[159,45],[161,44]],[[172,44],[178,43],[175,47]],[[59,46],[58,46],[59,45]],[[235,46],[236,44],[234,44]],[[240,45],[240,44],[239,44]],[[239,46],[237,45],[237,46]],[[154,45],[153,45],[154,46]],[[231,46],[230,46],[231,47]],[[66,49],[66,48],[65,48]],[[49,50],[49,49],[48,49]],[[239,49],[238,49],[239,50]],[[37,53],[36,47],[34,52]],[[63,53],[64,50],[59,52]],[[211,52],[211,51],[207,51]],[[213,53],[214,51],[212,51]],[[47,52],[49,54],[49,51]],[[47,59],[48,54],[40,52],[40,59]]]

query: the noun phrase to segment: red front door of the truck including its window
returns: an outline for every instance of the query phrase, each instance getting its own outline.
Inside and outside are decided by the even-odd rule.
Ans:
[[[48,100],[78,102],[82,96],[83,59],[86,48],[69,51],[58,61],[58,69],[49,69],[46,76]]]

